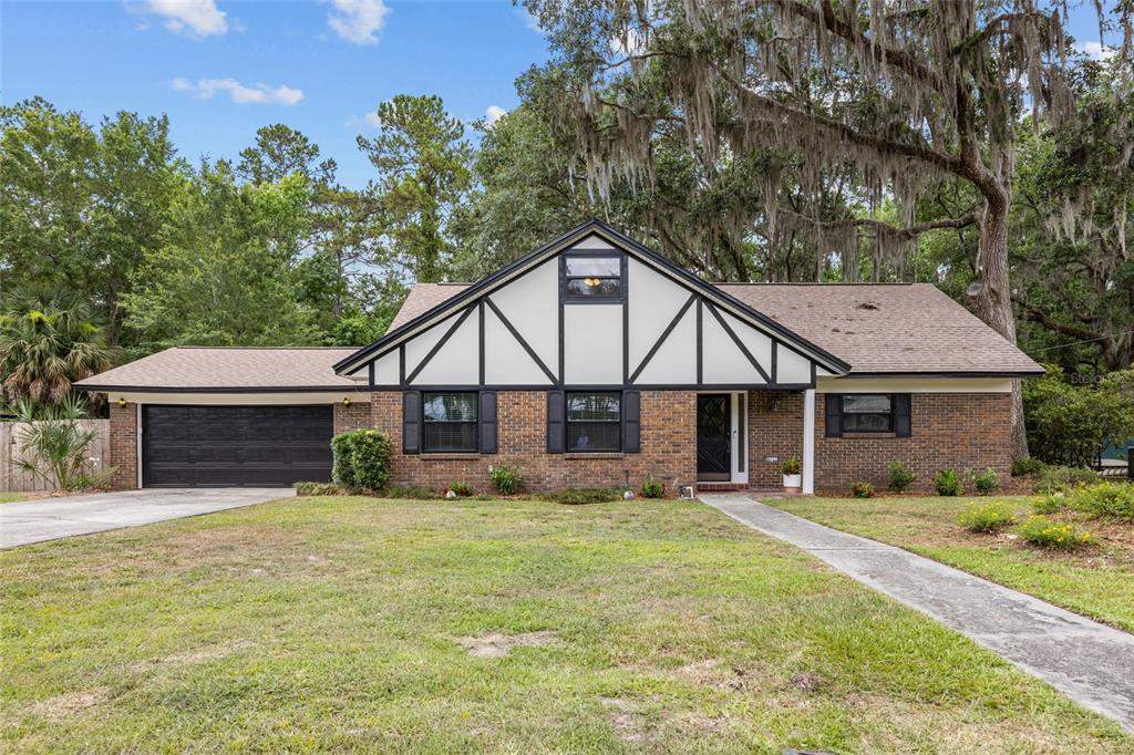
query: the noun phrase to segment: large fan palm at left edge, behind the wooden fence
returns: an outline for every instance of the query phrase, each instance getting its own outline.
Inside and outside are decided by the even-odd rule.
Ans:
[[[0,314],[0,398],[58,404],[71,383],[110,366],[102,330],[83,304],[51,295],[9,296]]]

